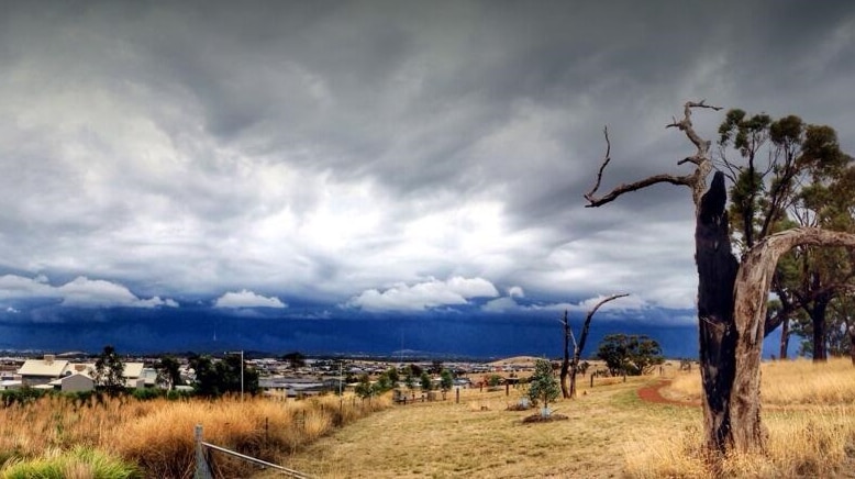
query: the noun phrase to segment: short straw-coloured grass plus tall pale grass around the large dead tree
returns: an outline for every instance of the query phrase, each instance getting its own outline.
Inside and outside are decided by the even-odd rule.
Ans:
[[[567,421],[524,424],[532,411],[507,411],[511,389],[464,390],[451,401],[395,406],[323,437],[282,460],[323,478],[711,478],[699,450],[697,369],[665,369],[663,396],[686,405],[642,401],[659,377],[601,379],[558,401]],[[729,457],[721,477],[855,477],[855,368],[847,360],[768,363],[763,367],[769,447],[764,457]],[[486,408],[486,410],[485,410]],[[273,477],[260,475],[260,477]]]

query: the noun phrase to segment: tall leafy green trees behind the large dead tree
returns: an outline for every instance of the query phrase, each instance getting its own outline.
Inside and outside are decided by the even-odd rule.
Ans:
[[[728,112],[720,129],[722,165],[730,171],[733,239],[743,252],[778,231],[819,226],[854,232],[855,170],[840,148],[834,129],[804,123],[796,115],[773,120],[743,110]],[[728,157],[735,151],[740,159]],[[843,248],[798,246],[778,263],[766,334],[778,325],[781,357],[790,326],[812,337],[814,359],[824,359],[837,318],[830,305],[851,288],[853,257]]]

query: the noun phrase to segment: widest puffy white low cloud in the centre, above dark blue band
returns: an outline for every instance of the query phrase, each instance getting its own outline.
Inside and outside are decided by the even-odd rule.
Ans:
[[[446,281],[431,279],[413,286],[396,285],[385,291],[369,289],[352,298],[347,305],[365,311],[424,311],[432,308],[467,304],[473,298],[495,298],[499,291],[484,278],[459,276]]]

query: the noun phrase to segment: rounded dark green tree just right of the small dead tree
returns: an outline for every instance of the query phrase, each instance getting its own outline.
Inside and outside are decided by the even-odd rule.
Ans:
[[[641,376],[665,361],[659,344],[645,335],[610,334],[602,338],[597,357],[612,376]]]

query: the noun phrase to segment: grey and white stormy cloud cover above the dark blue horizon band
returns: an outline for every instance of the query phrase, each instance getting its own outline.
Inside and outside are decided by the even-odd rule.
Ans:
[[[524,314],[615,292],[613,311],[685,311],[689,191],[586,209],[603,126],[606,189],[688,172],[665,129],[687,100],[795,113],[855,151],[848,1],[0,9],[3,321]],[[723,112],[693,119],[715,140]]]

